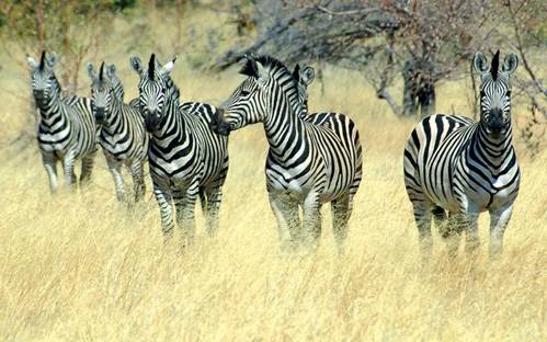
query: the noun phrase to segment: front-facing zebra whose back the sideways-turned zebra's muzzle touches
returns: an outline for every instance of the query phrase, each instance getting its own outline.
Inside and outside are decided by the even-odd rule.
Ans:
[[[152,54],[148,70],[138,57],[132,57],[130,64],[140,77],[139,101],[150,134],[148,160],[163,236],[168,242],[173,235],[174,204],[184,248],[194,239],[197,196],[208,235],[217,231],[228,172],[228,138],[214,134],[209,127],[216,113],[214,106],[200,102],[179,104],[180,92],[170,78],[175,60],[176,57],[161,66]]]

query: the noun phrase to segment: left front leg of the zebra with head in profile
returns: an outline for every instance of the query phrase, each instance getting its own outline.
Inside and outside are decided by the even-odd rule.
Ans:
[[[294,250],[301,238],[298,202],[277,192],[269,192],[270,206],[277,221],[283,250]]]

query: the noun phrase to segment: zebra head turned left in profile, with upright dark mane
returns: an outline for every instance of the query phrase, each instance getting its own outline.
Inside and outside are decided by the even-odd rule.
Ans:
[[[285,112],[287,104],[298,106],[298,84],[281,61],[254,55],[246,55],[243,59],[240,73],[247,79],[217,109],[210,123],[212,129],[220,135],[259,122],[267,124],[274,113]]]

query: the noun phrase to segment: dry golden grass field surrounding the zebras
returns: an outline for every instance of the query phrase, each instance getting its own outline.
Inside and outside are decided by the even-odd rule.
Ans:
[[[126,99],[138,80],[128,57],[150,52],[105,54]],[[168,47],[158,54],[161,61],[174,55]],[[13,141],[29,125],[27,73],[7,56],[0,61],[0,340],[547,339],[547,152],[532,159],[516,134],[523,176],[502,256],[488,258],[483,214],[475,262],[464,253],[448,259],[435,236],[432,261],[422,264],[402,178],[415,121],[397,119],[360,75],[327,67],[324,93],[318,81],[309,88],[310,111],[349,114],[364,146],[345,253],[335,249],[329,206],[316,253],[280,251],[265,191],[267,145],[255,125],[230,135],[218,236],[207,237],[197,208],[196,243],[181,254],[163,247],[148,175],[144,203],[128,212],[102,151],[88,189],[49,194],[35,140]],[[180,54],[173,79],[183,101],[219,104],[242,77],[236,68],[204,73]],[[84,70],[81,82],[89,94]],[[441,84],[437,112],[470,113],[471,94],[466,80]],[[515,127],[524,125],[521,113],[515,106]]]

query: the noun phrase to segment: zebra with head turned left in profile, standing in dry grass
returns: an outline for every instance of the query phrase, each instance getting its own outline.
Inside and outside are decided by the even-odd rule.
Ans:
[[[303,243],[317,248],[320,208],[330,202],[334,237],[342,251],[363,172],[355,124],[339,113],[303,117],[300,79],[274,57],[246,55],[244,59],[240,73],[247,79],[217,110],[213,129],[227,136],[231,130],[263,123],[270,145],[266,190],[282,249],[296,249]],[[301,224],[299,206],[304,212]]]

